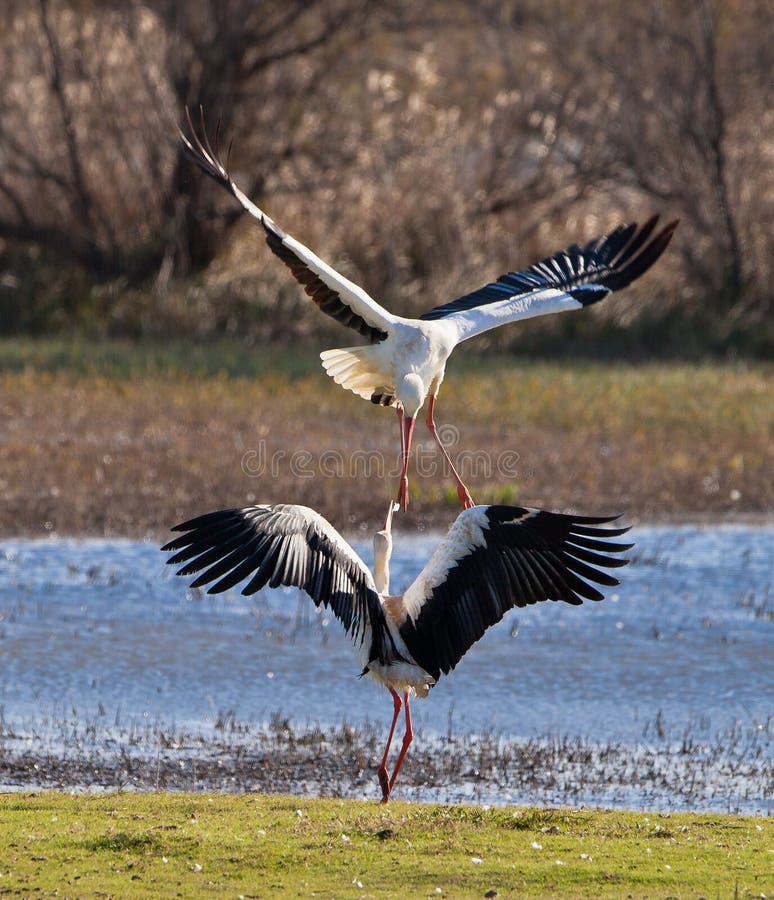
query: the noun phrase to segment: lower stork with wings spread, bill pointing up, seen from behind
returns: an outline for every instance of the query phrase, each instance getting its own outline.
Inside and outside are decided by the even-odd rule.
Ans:
[[[250,580],[243,594],[290,585],[330,608],[360,651],[361,675],[392,695],[393,717],[378,769],[386,803],[413,738],[409,697],[426,697],[490,625],[514,606],[542,600],[578,605],[601,600],[589,582],[616,585],[597,567],[628,560],[610,556],[633,544],[609,540],[628,528],[600,528],[614,517],[562,515],[518,506],[474,506],[461,512],[427,565],[402,596],[390,590],[392,508],[374,535],[374,573],[322,516],[306,506],[250,506],[208,513],[176,525],[185,532],[162,550],[201,572],[191,587],[210,594]],[[202,571],[204,570],[204,571]],[[214,584],[212,584],[214,582]],[[406,730],[392,776],[390,745],[405,703]]]

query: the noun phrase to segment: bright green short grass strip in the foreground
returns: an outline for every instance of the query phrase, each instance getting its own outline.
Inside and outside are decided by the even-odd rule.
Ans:
[[[0,795],[0,893],[758,897],[770,819],[276,796]]]

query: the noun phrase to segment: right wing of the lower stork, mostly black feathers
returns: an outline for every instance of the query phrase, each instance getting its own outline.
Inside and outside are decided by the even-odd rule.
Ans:
[[[438,678],[453,669],[490,625],[514,606],[542,600],[602,600],[589,582],[616,585],[601,568],[628,562],[628,528],[518,506],[474,506],[457,517],[403,596],[400,634],[416,662]]]

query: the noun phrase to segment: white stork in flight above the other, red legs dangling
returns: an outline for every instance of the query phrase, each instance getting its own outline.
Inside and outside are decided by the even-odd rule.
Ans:
[[[636,223],[619,225],[584,247],[573,244],[524,271],[501,275],[497,281],[436,306],[418,319],[408,319],[393,315],[276,225],[232,180],[227,165],[210,144],[203,113],[201,137],[188,109],[186,117],[190,138],[182,131],[180,138],[188,156],[261,223],[270,249],[317,306],[369,340],[366,346],[325,350],[320,358],[337,384],[372,403],[397,408],[402,460],[398,503],[404,510],[408,505],[414,422],[425,400],[427,427],[451,470],[457,495],[464,507],[473,506],[470,492],[438,436],[434,419],[446,360],[457,344],[518,319],[581,309],[611,291],[625,288],[661,256],[677,227],[674,221],[656,231],[657,215],[641,228]]]

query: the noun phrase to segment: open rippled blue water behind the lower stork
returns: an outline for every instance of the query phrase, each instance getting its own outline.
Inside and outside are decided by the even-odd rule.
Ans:
[[[413,705],[419,735],[638,746],[744,729],[770,758],[774,527],[638,527],[632,539],[603,602],[515,610],[491,629]],[[436,540],[397,536],[393,590]],[[150,543],[0,541],[6,731],[45,738],[73,716],[206,731],[275,713],[386,730],[392,702],[358,672],[338,622],[297,591],[191,592]]]

